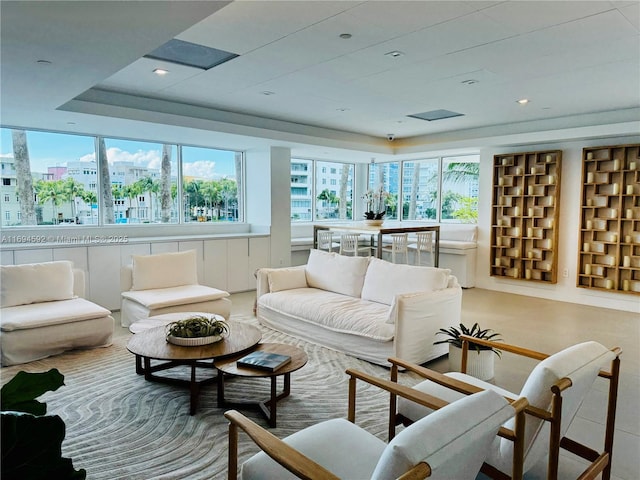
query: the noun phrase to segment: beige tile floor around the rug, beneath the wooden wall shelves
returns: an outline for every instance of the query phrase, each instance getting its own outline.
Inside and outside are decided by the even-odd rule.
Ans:
[[[233,294],[232,314],[251,314],[254,299],[255,292]],[[479,288],[464,290],[462,309],[465,324],[478,322],[483,328],[501,333],[505,341],[532,350],[554,353],[586,340],[621,347],[612,478],[640,479],[640,315]],[[446,371],[448,360],[436,360],[429,366]],[[503,357],[496,361],[495,382],[518,392],[532,366],[528,360]],[[604,438],[606,385],[605,380],[597,380],[570,428],[570,436],[587,439],[586,443],[596,449],[601,448]],[[581,461],[563,455],[560,478],[577,478],[584,468]],[[545,465],[534,468],[525,478],[546,478]]]

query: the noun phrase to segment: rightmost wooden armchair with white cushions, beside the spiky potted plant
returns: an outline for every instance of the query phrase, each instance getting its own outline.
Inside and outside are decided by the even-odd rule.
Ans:
[[[522,473],[530,470],[547,457],[547,479],[557,480],[560,449],[565,449],[590,462],[589,466],[579,477],[580,480],[599,478],[603,480],[611,477],[611,455],[613,449],[613,434],[615,424],[618,379],[620,372],[620,354],[618,347],[607,349],[597,342],[584,342],[573,345],[553,355],[528,350],[515,345],[496,343],[476,339],[466,335],[463,340],[463,354],[461,372],[441,374],[427,368],[413,365],[397,358],[389,361],[391,380],[398,380],[398,369],[402,368],[421,375],[425,380],[413,388],[430,395],[438,396],[446,401],[454,402],[465,395],[482,390],[494,390],[505,398],[526,398],[529,406],[525,408],[526,428],[524,446],[520,464],[522,471],[512,469],[511,456],[513,444],[503,439],[496,442],[487,456],[482,472],[495,479],[522,478]],[[467,375],[467,356],[473,355],[469,350],[470,344],[491,346],[502,350],[503,353],[515,354],[539,361],[526,379],[518,394],[511,393],[497,385],[488,383]],[[608,370],[601,370],[605,365]],[[604,448],[601,452],[566,436],[569,425],[573,421],[578,408],[598,377],[609,381]],[[399,424],[410,425],[432,410],[407,401],[403,398],[390,402],[389,436],[393,435]],[[395,418],[394,418],[395,417]],[[509,426],[508,422],[505,426]]]

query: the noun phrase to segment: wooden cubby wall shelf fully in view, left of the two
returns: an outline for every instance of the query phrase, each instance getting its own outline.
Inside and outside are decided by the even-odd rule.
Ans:
[[[492,276],[556,283],[561,161],[560,150],[493,157]]]

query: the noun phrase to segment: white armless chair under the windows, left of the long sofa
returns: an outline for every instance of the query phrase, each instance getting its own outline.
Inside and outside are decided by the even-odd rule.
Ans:
[[[120,269],[120,322],[123,327],[175,312],[231,315],[229,292],[198,284],[195,250],[132,255]]]

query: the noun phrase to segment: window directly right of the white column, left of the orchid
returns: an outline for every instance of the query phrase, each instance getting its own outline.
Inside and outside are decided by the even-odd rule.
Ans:
[[[292,222],[352,218],[353,164],[292,158],[291,172],[304,172],[291,185]]]

